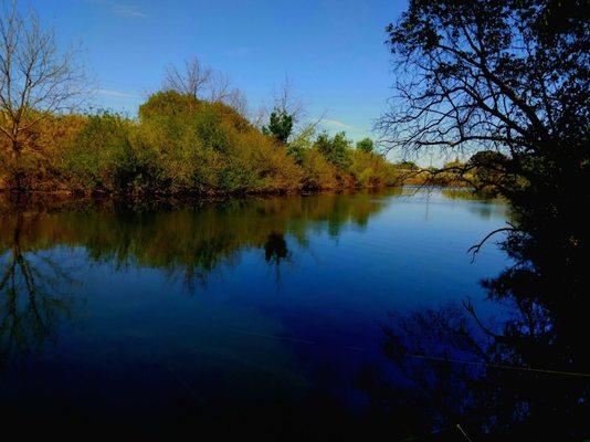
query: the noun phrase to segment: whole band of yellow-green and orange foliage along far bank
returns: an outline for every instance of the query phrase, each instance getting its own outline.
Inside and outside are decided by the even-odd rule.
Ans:
[[[19,166],[25,177],[21,187],[139,196],[285,192],[397,180],[393,165],[355,149],[344,133],[316,137],[306,128],[287,143],[291,131],[288,115],[271,114],[260,130],[221,102],[159,92],[139,107],[137,120],[109,113],[45,118],[31,137],[34,149]],[[3,188],[12,188],[13,170],[7,155]]]

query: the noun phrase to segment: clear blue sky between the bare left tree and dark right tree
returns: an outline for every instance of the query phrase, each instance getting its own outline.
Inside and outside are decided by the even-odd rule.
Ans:
[[[21,0],[60,43],[82,44],[98,107],[136,115],[169,64],[197,55],[270,104],[288,76],[309,116],[370,135],[392,76],[384,27],[404,0]]]

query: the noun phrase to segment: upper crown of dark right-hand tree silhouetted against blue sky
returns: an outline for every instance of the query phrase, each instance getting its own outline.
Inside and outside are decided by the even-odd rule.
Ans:
[[[389,146],[485,146],[513,157],[580,149],[588,21],[558,3],[412,1],[388,28],[392,52],[411,70],[398,77],[400,107],[379,123]]]

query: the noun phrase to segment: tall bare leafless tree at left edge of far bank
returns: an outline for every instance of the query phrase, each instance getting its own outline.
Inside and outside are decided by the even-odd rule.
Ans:
[[[25,187],[28,154],[42,154],[39,127],[71,110],[84,92],[84,72],[74,51],[59,51],[53,31],[33,12],[22,17],[15,2],[0,11],[0,135],[18,190]]]

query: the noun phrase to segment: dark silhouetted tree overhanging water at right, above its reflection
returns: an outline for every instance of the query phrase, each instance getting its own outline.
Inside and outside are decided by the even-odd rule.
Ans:
[[[388,28],[398,94],[378,124],[382,143],[405,152],[502,152],[478,167],[501,171],[489,177],[513,206],[515,254],[535,236],[539,251],[583,260],[589,13],[582,0],[414,0]]]

